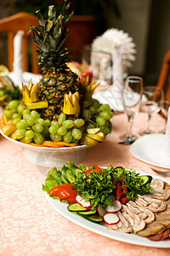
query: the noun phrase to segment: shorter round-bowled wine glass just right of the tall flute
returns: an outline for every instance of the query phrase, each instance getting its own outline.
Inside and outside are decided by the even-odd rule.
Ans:
[[[141,111],[148,113],[148,123],[145,131],[139,132],[140,135],[150,134],[153,131],[150,129],[150,120],[155,113],[158,113],[163,104],[163,90],[156,86],[146,86],[143,90]]]

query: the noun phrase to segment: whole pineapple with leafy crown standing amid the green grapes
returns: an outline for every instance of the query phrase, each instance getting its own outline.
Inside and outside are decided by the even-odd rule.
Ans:
[[[48,102],[48,108],[41,112],[42,118],[55,119],[63,112],[65,94],[78,92],[82,99],[82,84],[76,73],[73,73],[67,63],[71,53],[65,45],[69,31],[65,24],[73,13],[65,18],[65,12],[70,3],[63,5],[59,15],[56,15],[54,5],[48,7],[48,20],[44,20],[40,11],[37,11],[38,26],[31,26],[32,41],[37,44],[38,65],[42,79],[38,85],[38,97]]]

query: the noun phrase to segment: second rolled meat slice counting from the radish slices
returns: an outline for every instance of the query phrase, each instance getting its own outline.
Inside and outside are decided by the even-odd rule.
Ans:
[[[125,205],[122,205],[122,215],[131,224],[133,228],[133,233],[137,233],[140,230],[144,230],[144,219],[140,218],[137,214],[134,214],[133,211]]]

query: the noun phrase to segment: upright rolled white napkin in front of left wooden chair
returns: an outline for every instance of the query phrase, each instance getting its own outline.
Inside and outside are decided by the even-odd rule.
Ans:
[[[24,32],[18,31],[14,36],[14,62],[13,62],[13,81],[14,84],[20,85],[23,80],[23,54],[22,38]]]

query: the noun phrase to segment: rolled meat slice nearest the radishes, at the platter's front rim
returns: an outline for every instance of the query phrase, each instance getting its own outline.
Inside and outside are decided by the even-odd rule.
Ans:
[[[120,221],[118,224],[108,226],[108,229],[117,230],[124,233],[132,233],[133,228],[131,224],[127,221],[126,218],[122,215],[121,212],[116,212],[116,215],[120,218]]]

